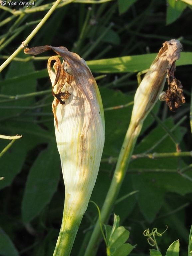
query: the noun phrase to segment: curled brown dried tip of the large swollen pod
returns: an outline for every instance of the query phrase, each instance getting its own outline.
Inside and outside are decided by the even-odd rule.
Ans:
[[[100,94],[95,79],[85,60],[76,53],[68,51],[64,46],[54,47],[45,45],[30,49],[26,48],[24,49],[24,53],[37,55],[48,50],[53,50],[64,60],[64,64],[61,64],[61,61],[57,56],[52,56],[48,60],[48,73],[53,86],[52,94],[55,97],[52,108],[57,128],[58,119],[56,115],[56,107],[58,105],[66,106],[68,104],[70,98],[74,97],[72,94],[72,91],[75,90],[74,87],[77,88],[78,93],[80,92],[83,95],[82,99],[86,100],[86,104],[91,108],[92,115],[95,115],[96,108],[93,108],[92,106],[97,100],[100,101]],[[52,61],[55,61],[53,65],[54,71],[51,68]],[[67,89],[64,90],[66,87]],[[69,88],[71,88],[71,90],[68,91]],[[88,124],[86,126],[88,126]]]

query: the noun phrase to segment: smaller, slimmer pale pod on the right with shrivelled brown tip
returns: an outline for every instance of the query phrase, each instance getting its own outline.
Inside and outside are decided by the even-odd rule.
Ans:
[[[151,64],[149,71],[145,74],[135,93],[131,122],[134,122],[136,125],[143,123],[147,114],[158,100],[159,94],[163,90],[166,77],[170,74],[170,72],[174,74],[175,61],[180,58],[181,51],[182,45],[176,39],[163,43],[163,47],[159,50],[157,57]],[[171,86],[172,85],[170,84],[170,90],[172,90]],[[181,89],[179,88],[180,95],[182,94]],[[176,89],[174,89],[174,92],[175,101],[177,101],[176,97],[179,95]],[[165,100],[167,103],[170,101],[167,93]],[[172,101],[174,101],[174,97],[172,97]],[[182,103],[184,103],[184,101]]]

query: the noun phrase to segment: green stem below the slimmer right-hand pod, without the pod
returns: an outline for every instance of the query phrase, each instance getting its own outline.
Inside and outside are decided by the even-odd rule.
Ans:
[[[121,151],[116,164],[111,185],[109,187],[108,193],[103,203],[103,207],[101,209],[102,223],[107,222],[111,209],[115,203],[116,197],[118,195],[124,176],[126,174],[127,167],[131,159],[131,155],[132,155],[132,152],[141,128],[142,128],[142,122],[140,122],[138,125],[132,122],[129,125],[127,133],[125,135],[124,142],[121,147]],[[96,254],[96,251],[100,242],[100,236],[101,236],[100,225],[99,225],[99,220],[97,220],[84,256],[94,256]]]

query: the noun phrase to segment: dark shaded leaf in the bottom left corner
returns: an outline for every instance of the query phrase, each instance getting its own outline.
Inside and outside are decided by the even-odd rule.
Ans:
[[[9,236],[0,228],[0,255],[2,256],[19,256],[17,249]]]

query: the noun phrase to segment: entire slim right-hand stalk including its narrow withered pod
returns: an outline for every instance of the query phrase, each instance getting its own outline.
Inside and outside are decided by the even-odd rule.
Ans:
[[[103,223],[108,220],[115,204],[143,121],[157,102],[164,87],[167,70],[170,70],[172,66],[174,67],[175,61],[180,57],[181,49],[182,46],[177,40],[165,42],[136,91],[131,122],[121,147],[111,185],[101,209],[101,222]],[[97,220],[84,256],[94,256],[96,254],[100,234],[99,221]]]

